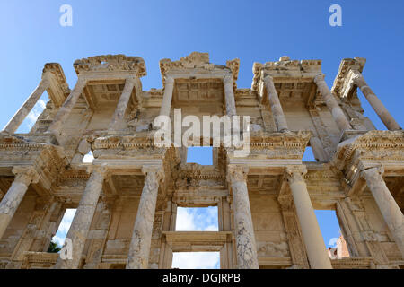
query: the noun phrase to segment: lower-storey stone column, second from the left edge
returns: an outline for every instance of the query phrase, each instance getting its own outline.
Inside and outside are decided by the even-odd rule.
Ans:
[[[80,265],[85,240],[90,230],[92,217],[100,198],[102,183],[107,171],[106,167],[93,167],[92,175],[87,181],[72,225],[70,225],[70,229],[66,235],[66,239],[70,239],[72,243],[72,259],[62,259],[59,257],[55,265],[56,269],[76,269]]]

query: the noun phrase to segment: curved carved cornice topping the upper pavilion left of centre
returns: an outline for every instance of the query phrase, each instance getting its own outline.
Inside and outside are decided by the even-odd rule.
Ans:
[[[75,60],[75,72],[130,72],[137,77],[146,73],[145,60],[141,57],[128,57],[125,55],[101,55]]]

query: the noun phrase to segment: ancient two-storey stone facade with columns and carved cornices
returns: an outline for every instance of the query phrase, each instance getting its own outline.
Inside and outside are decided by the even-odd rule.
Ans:
[[[238,59],[194,52],[162,59],[163,88],[150,91],[141,57],[77,60],[73,90],[46,64],[0,134],[0,268],[171,268],[184,251],[218,251],[222,268],[403,267],[404,133],[364,63],[344,59],[329,90],[321,60],[281,57],[255,63],[241,89]],[[358,88],[387,130],[364,117]],[[16,134],[44,91],[46,109]],[[154,118],[174,109],[250,116],[250,154],[222,145],[200,166],[156,146]],[[317,162],[302,161],[308,146]],[[218,231],[175,230],[178,207],[214,205]],[[47,252],[66,208],[77,208],[72,259]],[[329,258],[314,209],[336,211],[344,257]]]

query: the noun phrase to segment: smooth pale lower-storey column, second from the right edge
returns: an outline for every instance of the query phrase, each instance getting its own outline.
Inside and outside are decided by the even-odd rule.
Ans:
[[[312,201],[304,182],[303,176],[306,172],[307,170],[303,166],[286,168],[286,178],[294,197],[294,206],[302,228],[307,257],[309,257],[312,269],[332,269],[319,223],[312,208]]]

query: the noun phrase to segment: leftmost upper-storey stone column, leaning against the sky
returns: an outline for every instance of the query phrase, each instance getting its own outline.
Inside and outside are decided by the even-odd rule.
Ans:
[[[48,89],[50,85],[49,75],[44,74],[42,76],[42,80],[38,87],[31,93],[30,97],[22,104],[22,107],[15,113],[13,118],[8,122],[8,124],[4,127],[4,132],[9,134],[15,133],[18,127],[22,124],[25,117],[28,116],[31,109],[35,106],[35,104],[40,100],[43,92]]]

